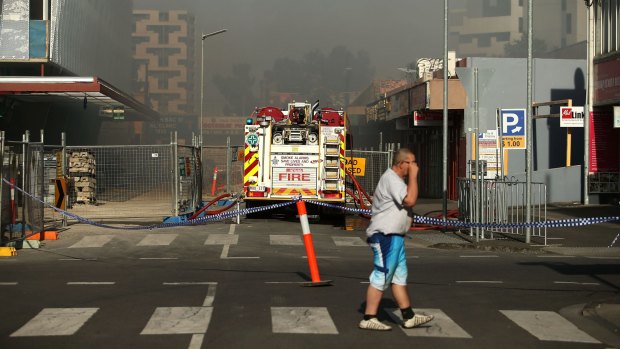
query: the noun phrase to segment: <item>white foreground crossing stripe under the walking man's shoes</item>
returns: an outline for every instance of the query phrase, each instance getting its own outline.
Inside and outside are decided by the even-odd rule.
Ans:
[[[386,309],[388,314],[399,325],[402,323],[402,315],[399,309]],[[444,337],[444,338],[471,338],[461,326],[457,325],[446,313],[440,309],[414,309],[416,313],[433,315],[435,318],[420,327],[402,328],[403,332],[410,337]],[[400,327],[400,326],[399,326]]]

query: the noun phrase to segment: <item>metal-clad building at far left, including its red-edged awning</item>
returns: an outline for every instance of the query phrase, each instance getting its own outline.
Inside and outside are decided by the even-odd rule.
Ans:
[[[0,129],[9,139],[40,129],[58,142],[65,131],[74,144],[137,138],[133,125],[106,113],[123,110],[118,119],[136,120],[151,112],[124,92],[131,87],[131,15],[125,0],[0,2]],[[124,138],[109,139],[106,123]]]

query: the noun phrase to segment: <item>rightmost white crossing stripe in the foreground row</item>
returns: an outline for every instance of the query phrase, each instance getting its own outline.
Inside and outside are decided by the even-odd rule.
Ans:
[[[542,341],[600,343],[552,311],[500,310],[511,321]]]

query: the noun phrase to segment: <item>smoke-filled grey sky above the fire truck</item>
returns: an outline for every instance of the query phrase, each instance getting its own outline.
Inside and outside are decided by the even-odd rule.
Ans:
[[[375,78],[404,78],[397,68],[443,55],[440,0],[134,0],[134,7],[187,9],[197,37],[228,29],[205,41],[208,75],[249,63],[259,80],[277,58],[345,45],[370,54]]]

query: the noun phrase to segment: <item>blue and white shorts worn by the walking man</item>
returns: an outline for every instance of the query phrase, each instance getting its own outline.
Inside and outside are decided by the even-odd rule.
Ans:
[[[375,233],[367,242],[372,249],[375,264],[370,274],[370,284],[380,291],[387,290],[391,284],[407,285],[404,236]]]

